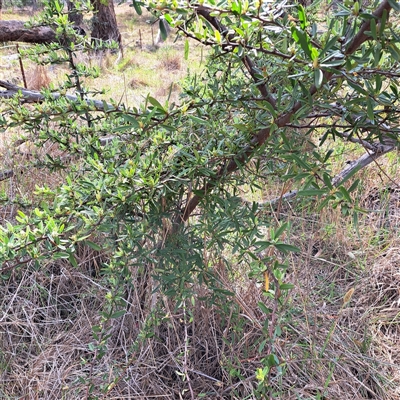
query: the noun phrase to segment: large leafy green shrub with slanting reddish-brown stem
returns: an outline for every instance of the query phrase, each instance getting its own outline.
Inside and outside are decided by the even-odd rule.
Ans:
[[[27,55],[67,63],[70,75],[54,90],[61,96],[49,90],[38,104],[9,100],[1,126],[20,129],[37,146],[57,143],[64,155],[48,154],[42,167],[65,170],[65,179],[56,188],[37,185],[32,204],[21,199],[16,220],[1,228],[2,278],[49,260],[78,268],[80,246],[106,254],[108,303],[93,328],[98,354],[106,351],[106,322],[125,312],[133,270],[149,285],[144,309],[154,310],[157,293],[185,308],[205,285],[210,307],[229,312],[230,292],[213,271],[218,262],[242,264],[264,283],[266,299],[281,304],[291,286],[278,253],[296,251],[284,240],[290,226],[270,221],[241,193],[260,177],[280,177],[299,195],[321,198],[321,208],[341,207],[356,220],[358,181],[345,183],[357,169],[335,179],[324,144],[353,142],[371,159],[398,144],[398,3],[346,1],[324,14],[321,4],[134,0],[138,13],[147,7],[177,29],[186,57],[190,38],[211,54],[204,73],[183,83],[179,104],[147,97],[128,109],[92,101],[101,93],[85,87],[85,78],[98,71],[75,57],[91,43],[72,29],[58,0],[49,1],[39,23],[55,26],[63,40]],[[271,369],[282,370],[273,346],[279,326],[270,319],[276,310],[260,308],[261,396]]]

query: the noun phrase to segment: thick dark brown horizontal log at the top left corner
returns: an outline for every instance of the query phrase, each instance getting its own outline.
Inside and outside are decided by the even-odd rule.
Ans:
[[[23,21],[0,21],[0,42],[52,43],[53,29],[47,26],[25,28]]]

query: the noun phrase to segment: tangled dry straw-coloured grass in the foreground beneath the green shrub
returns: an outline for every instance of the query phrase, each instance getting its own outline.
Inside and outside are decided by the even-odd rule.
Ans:
[[[397,193],[389,203],[398,200]],[[373,240],[382,221],[368,216],[359,238],[336,212],[286,218],[293,224],[289,239],[301,253],[289,264],[287,281],[295,288],[279,311],[282,334],[274,347],[285,373],[271,376],[276,398],[397,400],[398,208],[386,217],[390,233],[381,250]],[[152,318],[152,296],[151,285],[132,270],[136,290],[126,287],[127,313],[112,320],[107,353],[95,360],[88,344],[108,290],[100,267],[106,256],[81,249],[78,257],[79,269],[64,262],[29,266],[3,281],[0,397],[81,399],[94,384],[92,395],[103,399],[192,398],[190,388],[194,398],[254,398],[254,372],[266,355],[258,353],[265,316],[257,303],[271,306],[254,281],[241,276],[237,285],[230,278],[235,266],[228,272],[215,262],[223,286],[236,293],[224,306],[231,314],[199,300],[207,295],[203,287],[196,289],[196,304],[187,305],[192,322],[161,296],[158,324],[138,341]],[[354,294],[343,304],[350,289]]]

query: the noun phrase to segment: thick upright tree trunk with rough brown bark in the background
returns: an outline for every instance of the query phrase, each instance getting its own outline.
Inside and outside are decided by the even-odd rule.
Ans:
[[[92,0],[94,7],[92,38],[115,40],[121,47],[117,18],[112,0]]]

